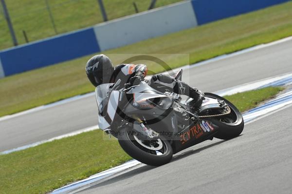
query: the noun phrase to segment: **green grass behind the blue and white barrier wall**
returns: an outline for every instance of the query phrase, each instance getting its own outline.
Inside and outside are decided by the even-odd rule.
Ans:
[[[139,11],[146,11],[151,0],[103,0],[108,19],[135,13],[132,2]],[[156,7],[180,0],[158,0]],[[97,0],[48,0],[55,20],[57,33],[69,32],[103,22]],[[29,41],[55,35],[45,0],[6,0],[7,9],[19,44],[25,43],[22,31]],[[0,49],[12,47],[12,40],[0,4]]]

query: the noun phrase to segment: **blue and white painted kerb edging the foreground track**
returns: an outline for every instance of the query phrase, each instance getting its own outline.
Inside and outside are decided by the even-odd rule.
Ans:
[[[260,107],[265,106],[265,105],[263,105],[263,106],[260,106],[260,107],[257,107],[255,109],[250,110],[248,113],[243,114],[243,119],[244,119],[245,125],[248,125],[248,124],[255,122],[261,118],[264,118],[268,115],[271,115],[273,113],[276,113],[276,112],[284,110],[288,107],[291,107],[292,106],[292,91],[287,92],[283,95],[280,95],[280,96],[276,97],[275,99],[268,101],[266,104],[269,104],[272,101],[277,101],[277,100],[281,101],[281,99],[286,98],[286,97],[290,97],[291,100],[286,101],[284,103],[278,102],[278,103],[275,103],[274,106],[272,106],[272,107],[269,107],[266,109],[265,108],[260,109]],[[256,113],[253,113],[254,112],[253,110],[256,110],[256,109],[259,109],[259,111]],[[252,113],[250,113],[250,112],[252,112]],[[55,191],[52,192],[52,194],[78,192],[80,190],[83,190],[83,189],[90,187],[91,186],[90,184],[92,184],[93,182],[100,181],[104,178],[109,178],[110,176],[114,176],[115,174],[120,173],[120,172],[122,172],[126,169],[129,169],[129,168],[132,168],[130,170],[133,170],[134,169],[133,167],[137,166],[138,164],[141,164],[141,162],[136,161],[136,160],[131,160],[131,161],[126,162],[120,166],[116,166],[116,167],[111,168],[109,170],[106,170],[104,172],[100,172],[98,174],[92,175],[89,178],[86,178],[86,179],[80,180],[78,182],[72,183],[70,185],[67,185],[65,187],[61,187],[59,189],[56,189]],[[142,166],[139,166],[139,167],[142,167]],[[82,188],[82,189],[80,189],[80,188]]]

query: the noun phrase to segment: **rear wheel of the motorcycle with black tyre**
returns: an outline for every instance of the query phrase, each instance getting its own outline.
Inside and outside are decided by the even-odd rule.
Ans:
[[[210,118],[211,122],[219,127],[214,137],[227,140],[239,136],[244,128],[244,121],[238,109],[224,97],[212,93],[205,93],[205,97],[224,100],[231,110],[229,114]]]

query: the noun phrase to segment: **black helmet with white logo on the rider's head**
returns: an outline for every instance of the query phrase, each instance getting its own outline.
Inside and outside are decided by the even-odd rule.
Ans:
[[[110,82],[113,66],[109,57],[100,54],[91,57],[86,64],[85,70],[88,79],[96,87],[102,83]]]

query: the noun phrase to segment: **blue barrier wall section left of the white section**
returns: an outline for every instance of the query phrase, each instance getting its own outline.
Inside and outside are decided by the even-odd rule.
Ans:
[[[62,34],[0,52],[5,76],[99,52],[92,28]]]

